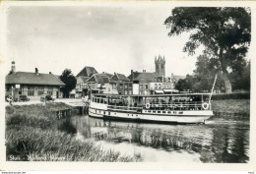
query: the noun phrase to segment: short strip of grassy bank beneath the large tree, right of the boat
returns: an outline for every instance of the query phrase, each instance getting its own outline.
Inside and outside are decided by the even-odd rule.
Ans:
[[[213,100],[212,108],[216,112],[250,114],[249,99]]]

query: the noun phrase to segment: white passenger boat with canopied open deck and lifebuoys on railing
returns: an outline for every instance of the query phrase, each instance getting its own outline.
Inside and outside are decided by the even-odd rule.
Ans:
[[[93,94],[91,117],[171,124],[204,123],[213,116],[211,93]]]

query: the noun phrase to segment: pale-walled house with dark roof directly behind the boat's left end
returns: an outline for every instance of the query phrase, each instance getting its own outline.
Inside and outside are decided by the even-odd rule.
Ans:
[[[89,94],[92,93],[111,93],[118,94],[116,82],[109,78],[109,74],[95,74],[86,81]]]

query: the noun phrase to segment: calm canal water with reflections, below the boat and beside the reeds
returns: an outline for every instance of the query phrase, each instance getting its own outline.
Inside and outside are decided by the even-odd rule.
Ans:
[[[163,125],[72,116],[59,129],[145,162],[249,161],[248,120],[213,118],[204,125]]]

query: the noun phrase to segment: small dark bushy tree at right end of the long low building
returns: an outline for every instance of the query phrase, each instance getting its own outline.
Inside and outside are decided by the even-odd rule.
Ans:
[[[77,79],[75,76],[73,76],[71,70],[66,69],[62,72],[62,75],[60,76],[60,80],[66,85],[61,89],[63,91],[64,97],[67,98],[69,97],[70,91],[76,87]]]

